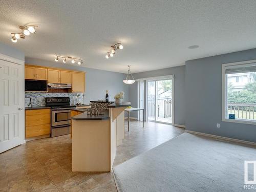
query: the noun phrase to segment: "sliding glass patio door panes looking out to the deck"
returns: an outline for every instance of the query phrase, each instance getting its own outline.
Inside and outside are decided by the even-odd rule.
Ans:
[[[173,78],[147,80],[147,120],[172,124]]]

